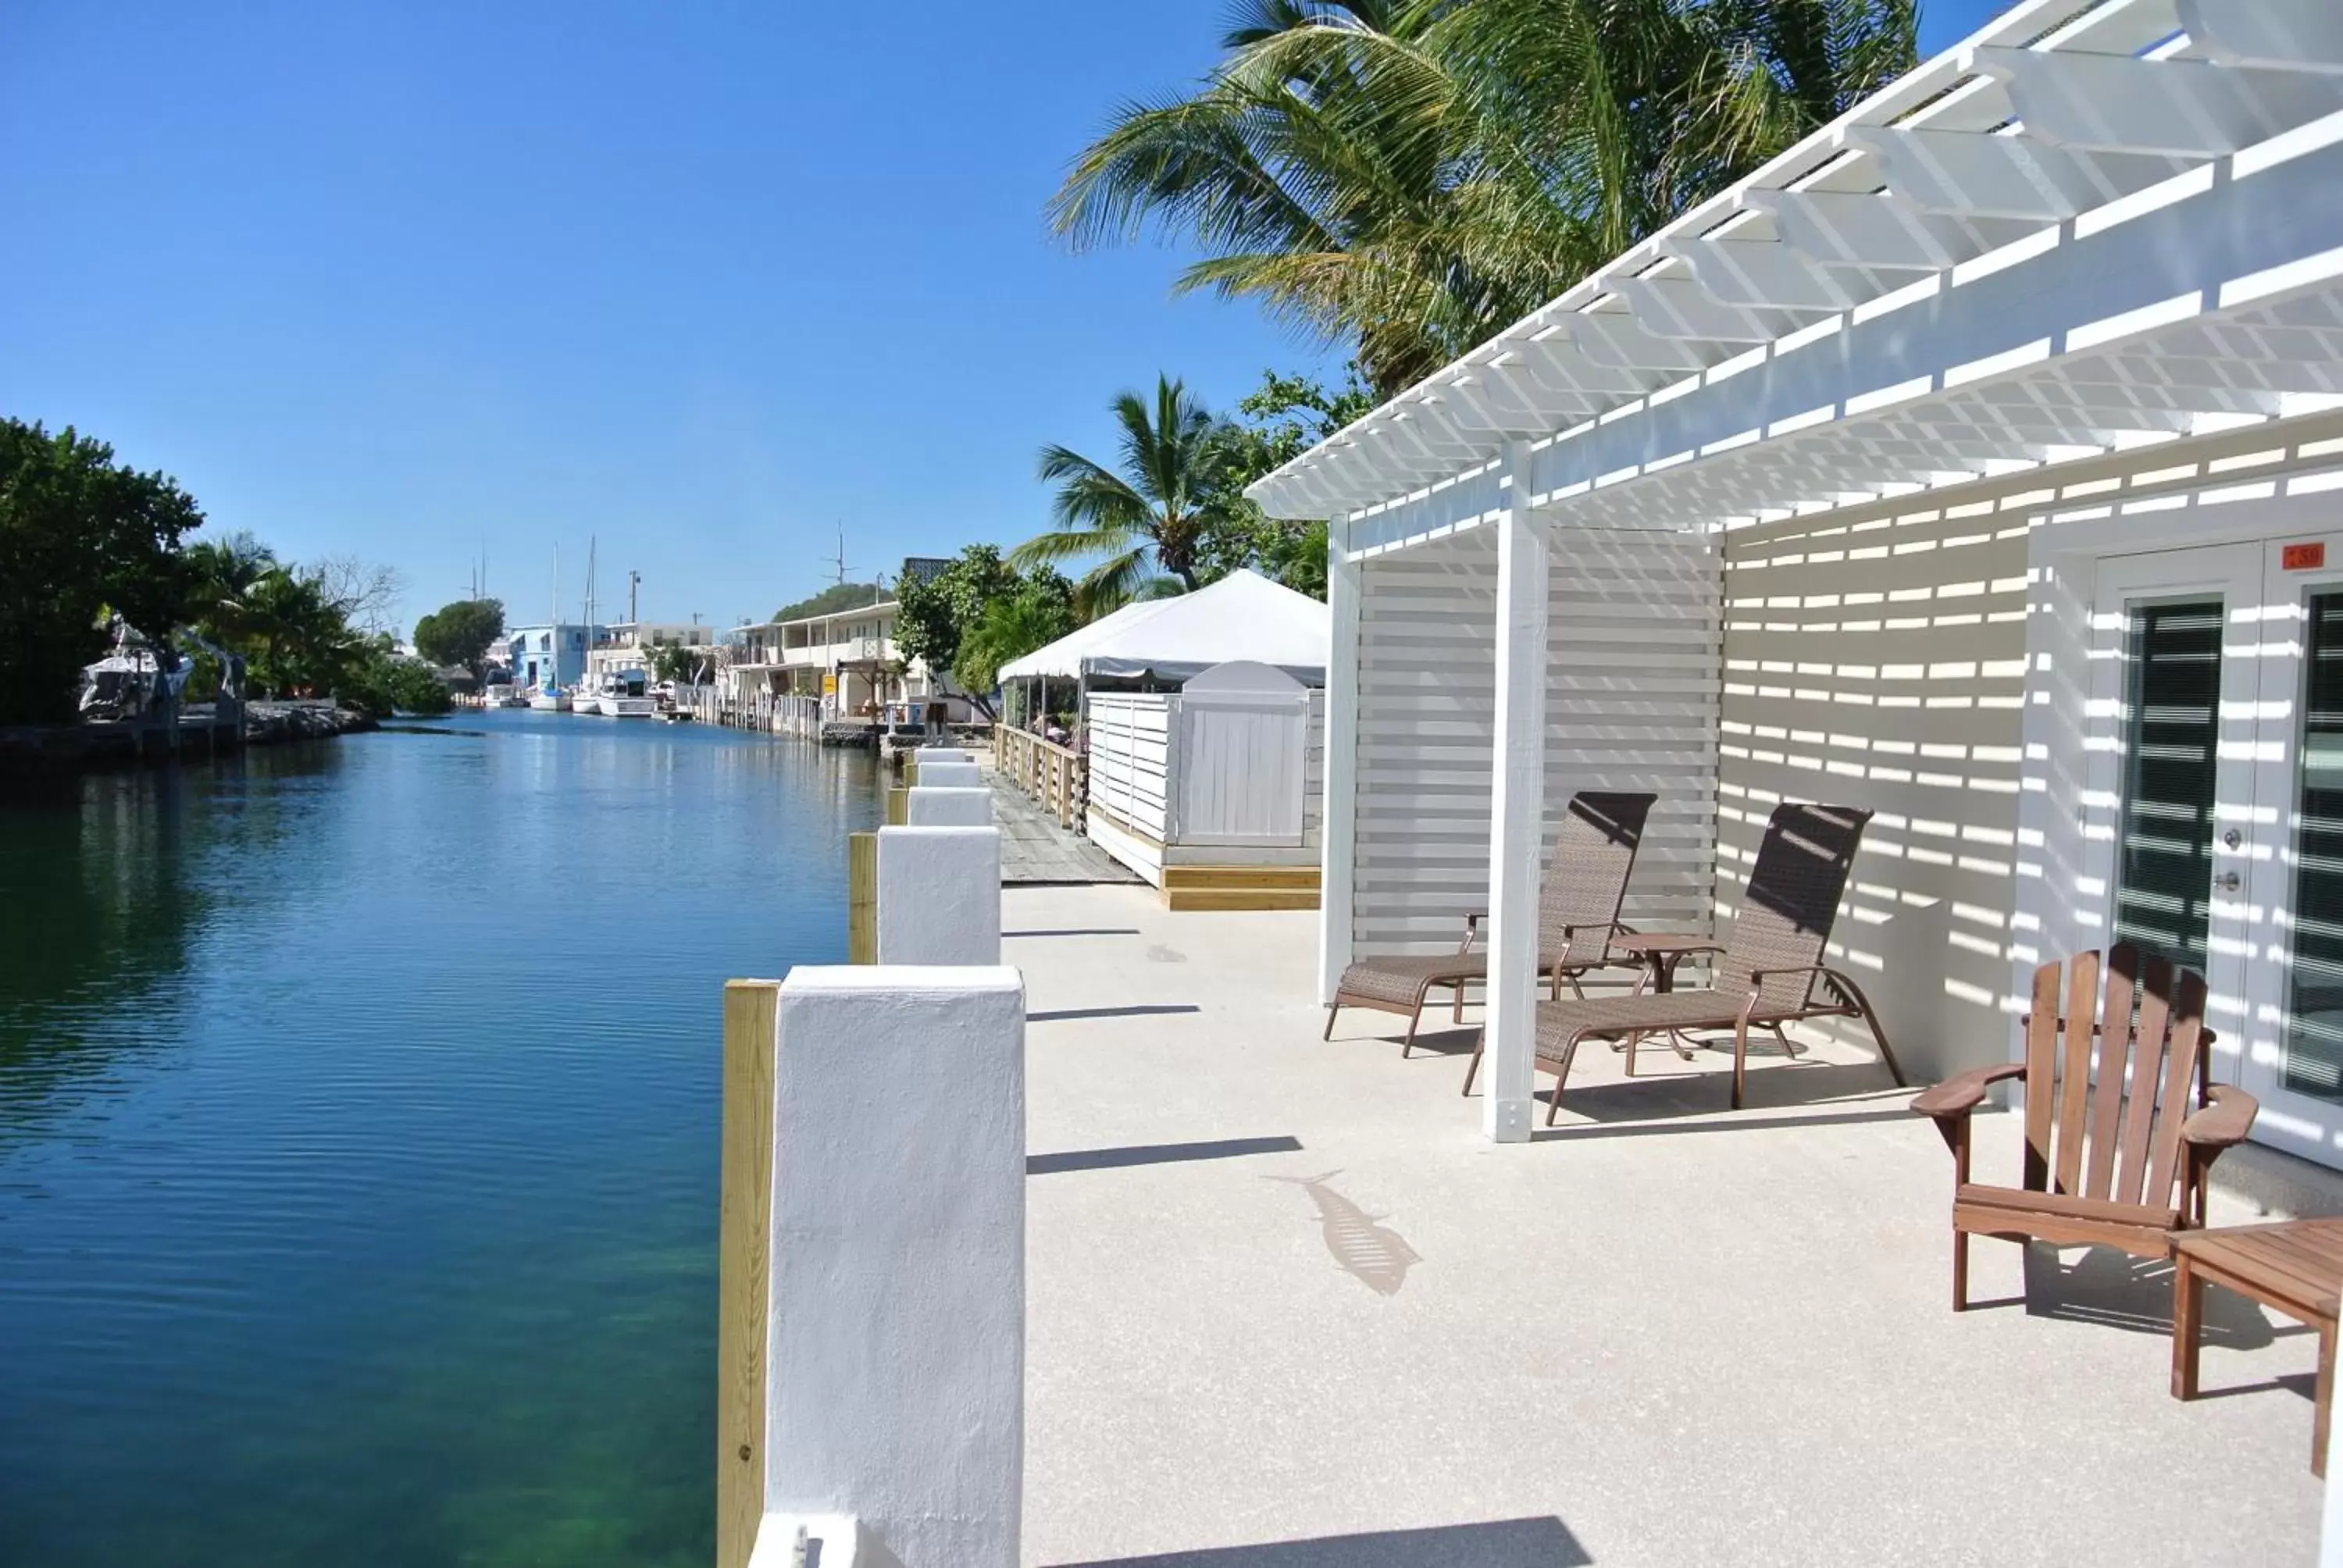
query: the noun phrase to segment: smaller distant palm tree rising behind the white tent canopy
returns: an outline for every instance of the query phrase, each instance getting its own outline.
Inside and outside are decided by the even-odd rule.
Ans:
[[[1157,375],[1153,405],[1120,391],[1108,408],[1122,427],[1120,469],[1061,445],[1043,448],[1038,473],[1057,485],[1050,502],[1057,527],[1010,551],[1019,567],[1106,555],[1073,586],[1085,621],[1146,598],[1157,572],[1193,591],[1197,544],[1218,516],[1221,422],[1181,382]]]

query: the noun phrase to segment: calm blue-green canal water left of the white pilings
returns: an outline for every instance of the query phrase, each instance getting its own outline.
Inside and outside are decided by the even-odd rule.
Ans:
[[[710,1561],[722,982],[876,766],[443,729],[0,799],[0,1563]]]

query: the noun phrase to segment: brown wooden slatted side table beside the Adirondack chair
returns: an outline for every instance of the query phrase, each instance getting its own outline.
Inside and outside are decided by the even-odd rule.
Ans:
[[[2172,1397],[2195,1399],[2205,1282],[2320,1331],[2320,1383],[2310,1474],[2327,1474],[2327,1411],[2336,1392],[2336,1296],[2343,1294],[2343,1219],[2291,1219],[2172,1233]]]

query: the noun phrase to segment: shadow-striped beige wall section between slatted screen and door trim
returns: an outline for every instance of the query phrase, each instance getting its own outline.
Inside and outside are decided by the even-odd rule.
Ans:
[[[1830,961],[1914,1080],[2008,1059],[2024,534],[1973,502],[1724,541],[1717,928],[1776,804],[1870,809]]]

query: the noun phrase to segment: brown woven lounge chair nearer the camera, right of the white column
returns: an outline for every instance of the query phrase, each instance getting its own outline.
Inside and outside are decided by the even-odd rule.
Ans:
[[[1675,1038],[1685,1029],[1731,1029],[1739,1111],[1750,1029],[1769,1029],[1795,1057],[1799,1048],[1781,1031],[1783,1024],[1809,1017],[1860,1017],[1879,1043],[1879,1059],[1895,1083],[1903,1083],[1903,1066],[1895,1064],[1870,998],[1853,980],[1823,963],[1830,926],[1839,916],[1839,893],[1846,891],[1846,872],[1870,820],[1870,811],[1851,806],[1774,809],[1764,841],[1757,844],[1757,865],[1750,867],[1741,909],[1734,914],[1731,940],[1722,947],[1703,942],[1689,949],[1724,954],[1717,980],[1706,991],[1645,994],[1638,984],[1631,996],[1537,1003],[1537,1071],[1553,1073],[1546,1125],[1553,1125],[1563,1109],[1563,1080],[1570,1078],[1579,1041],[1619,1041],[1626,1050],[1626,1071],[1633,1073],[1635,1043],[1647,1034]],[[1471,1066],[1464,1069],[1467,1095],[1478,1071],[1481,1045],[1474,1045]]]

